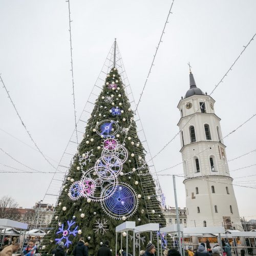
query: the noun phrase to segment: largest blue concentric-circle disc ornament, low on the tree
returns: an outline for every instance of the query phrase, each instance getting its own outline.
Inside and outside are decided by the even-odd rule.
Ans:
[[[105,187],[102,197],[104,197],[105,193],[108,194],[109,189],[112,189],[111,185]],[[117,220],[133,216],[138,207],[135,190],[126,183],[120,183],[115,193],[100,203],[105,213]]]

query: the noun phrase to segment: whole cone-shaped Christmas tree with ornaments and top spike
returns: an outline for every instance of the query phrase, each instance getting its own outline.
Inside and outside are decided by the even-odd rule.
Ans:
[[[70,254],[80,237],[89,243],[89,255],[96,255],[104,240],[110,241],[114,252],[115,227],[122,222],[165,225],[134,112],[116,67],[115,42],[112,68],[102,82],[45,238],[48,252],[63,241]],[[141,246],[149,240],[143,234]]]

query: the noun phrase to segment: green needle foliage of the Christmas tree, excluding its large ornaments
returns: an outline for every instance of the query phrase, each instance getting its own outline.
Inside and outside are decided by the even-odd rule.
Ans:
[[[113,75],[115,77],[113,77]],[[116,82],[116,80],[118,80],[118,82]],[[111,84],[112,81],[115,81],[115,83],[118,85],[118,88],[115,90],[109,89],[107,85],[107,83]],[[114,105],[112,104],[112,102],[105,101],[107,96],[111,96],[113,98]],[[121,103],[121,105],[119,103]],[[123,110],[123,113],[117,116],[113,116],[112,113],[110,113],[110,110],[113,108],[113,106],[118,106],[120,110]],[[84,138],[79,145],[80,156],[83,153],[87,153],[90,151],[94,155],[91,158],[91,162],[83,166],[83,170],[87,170],[89,168],[94,167],[96,160],[101,157],[104,138],[101,138],[94,130],[96,129],[97,122],[100,122],[101,120],[105,119],[111,119],[118,122],[119,127],[129,127],[127,135],[119,131],[118,134],[120,135],[120,137],[115,137],[115,139],[117,139],[120,144],[124,143],[125,148],[129,152],[129,157],[127,161],[123,164],[122,172],[124,173],[124,175],[119,175],[118,181],[129,184],[136,191],[137,195],[141,195],[141,198],[138,199],[139,203],[137,210],[135,211],[135,214],[130,218],[127,218],[126,221],[135,221],[136,225],[138,226],[150,223],[149,218],[152,217],[154,219],[154,222],[162,223],[163,226],[165,225],[165,219],[163,217],[163,214],[161,213],[160,203],[156,198],[154,180],[148,171],[148,166],[144,164],[144,167],[141,167],[141,160],[144,160],[145,155],[144,153],[140,154],[140,156],[135,154],[136,147],[137,150],[141,150],[140,152],[144,152],[144,148],[139,138],[137,137],[136,123],[133,120],[134,113],[130,108],[131,105],[129,103],[129,99],[125,95],[125,88],[122,84],[121,77],[116,69],[112,69],[109,76],[106,77],[105,85],[98,99],[95,102],[94,110],[86,126]],[[100,149],[98,149],[99,146]],[[135,154],[134,157],[131,156],[132,153]],[[48,251],[48,253],[51,253],[52,249],[56,247],[55,239],[61,237],[59,235],[56,235],[56,231],[58,231],[59,228],[58,223],[65,223],[65,228],[67,228],[67,221],[73,220],[73,216],[75,216],[74,220],[76,221],[76,225],[79,226],[78,229],[81,229],[82,233],[77,234],[74,238],[72,235],[70,236],[72,244],[69,246],[68,254],[71,254],[74,245],[76,245],[76,243],[79,241],[79,238],[83,237],[86,240],[86,242],[89,243],[89,255],[96,255],[97,250],[100,247],[100,242],[103,242],[104,240],[110,241],[110,248],[112,249],[114,255],[116,246],[115,227],[123,223],[124,221],[116,220],[106,215],[106,213],[100,205],[100,202],[91,201],[90,203],[88,203],[87,198],[84,197],[79,198],[77,201],[74,201],[71,200],[68,196],[69,188],[72,184],[70,178],[74,179],[74,181],[78,181],[82,176],[81,170],[77,170],[77,167],[80,166],[79,155],[77,154],[76,156],[74,156],[73,163],[69,170],[69,174],[66,177],[66,181],[62,186],[62,191],[58,199],[56,212],[50,225],[51,227],[53,227],[53,229],[51,229],[51,231],[47,234],[44,241],[46,244],[46,251]],[[139,157],[141,157],[140,160]],[[137,170],[137,168],[139,167],[140,169]],[[133,171],[133,168],[136,168],[136,171]],[[68,179],[68,177],[70,178]],[[146,179],[148,185],[142,187],[141,179]],[[138,185],[135,184],[136,181],[138,181]],[[151,195],[150,199],[148,198],[147,195]],[[152,211],[147,211],[146,204],[154,205],[156,211],[155,214]],[[64,206],[67,208],[67,210],[65,211],[62,210],[62,207]],[[81,211],[79,211],[79,209],[81,209]],[[84,218],[80,217],[82,213],[85,215]],[[95,232],[94,229],[96,228],[96,221],[103,221],[103,219],[107,221],[106,229],[108,230],[106,230],[104,234],[102,234],[102,232]],[[132,235],[132,232],[130,234]],[[141,236],[145,237],[144,246],[141,242],[141,248],[143,249],[146,243],[150,241],[150,237],[148,233],[143,233],[141,234]],[[90,240],[88,240],[88,237],[90,237]],[[129,250],[131,252],[133,245],[130,236],[129,246]],[[125,239],[123,239],[123,248],[126,248]],[[119,249],[120,234],[118,240],[118,250]]]

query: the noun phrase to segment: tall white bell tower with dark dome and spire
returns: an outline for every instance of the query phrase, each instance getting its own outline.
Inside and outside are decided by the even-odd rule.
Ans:
[[[191,71],[189,81],[178,104],[187,226],[242,229],[215,100],[197,88]]]

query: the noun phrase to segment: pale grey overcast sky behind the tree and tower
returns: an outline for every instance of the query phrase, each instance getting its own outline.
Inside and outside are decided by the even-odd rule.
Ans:
[[[135,99],[138,100],[172,1],[71,0],[73,65],[77,113],[93,88],[114,38],[123,58]],[[178,132],[177,104],[189,88],[187,62],[197,86],[210,93],[256,33],[253,0],[179,0],[163,36],[155,66],[147,82],[139,114],[152,155]],[[28,130],[45,155],[57,165],[74,129],[70,73],[68,3],[65,0],[0,3],[0,73]],[[225,136],[255,110],[256,40],[252,41],[212,98]],[[228,159],[256,148],[256,117],[224,140]],[[0,144],[18,161],[44,172],[52,167],[38,152],[19,121],[6,91],[0,88]],[[28,145],[18,141],[24,141]],[[182,161],[177,137],[155,158],[157,170]],[[256,164],[256,153],[229,163],[229,169]],[[0,152],[3,166],[29,170]],[[241,216],[256,218],[256,167],[231,172]],[[182,166],[162,174],[180,174]],[[31,207],[46,192],[51,174],[3,174],[1,196],[12,196]],[[245,177],[245,178],[237,178]],[[168,205],[174,206],[172,177],[159,177]],[[177,178],[179,206],[185,188]],[[248,182],[244,182],[248,181]],[[245,200],[247,199],[247,200]],[[47,202],[46,202],[47,203]],[[254,216],[253,216],[254,215]]]

